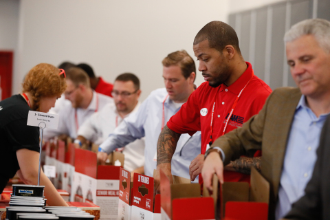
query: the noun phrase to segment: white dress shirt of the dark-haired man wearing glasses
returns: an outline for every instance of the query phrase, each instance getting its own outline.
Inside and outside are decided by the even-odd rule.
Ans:
[[[138,102],[133,112],[139,109]],[[126,117],[128,117],[126,115]],[[79,127],[78,135],[95,144],[101,144],[122,122],[114,103],[108,103],[101,111],[95,112]],[[124,168],[130,172],[144,166],[144,137],[127,144],[122,151],[125,155]]]

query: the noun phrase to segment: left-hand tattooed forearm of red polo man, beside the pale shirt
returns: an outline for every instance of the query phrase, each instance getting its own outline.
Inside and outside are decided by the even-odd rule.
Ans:
[[[167,125],[158,137],[157,143],[157,165],[163,163],[170,163],[173,157],[175,148],[177,147],[177,141],[181,134],[176,133],[168,129]]]

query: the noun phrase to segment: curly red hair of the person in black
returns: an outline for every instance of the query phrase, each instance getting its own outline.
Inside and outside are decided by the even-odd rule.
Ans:
[[[65,75],[48,63],[40,63],[25,76],[23,92],[29,92],[34,102],[33,110],[39,111],[41,97],[61,96],[67,87]]]

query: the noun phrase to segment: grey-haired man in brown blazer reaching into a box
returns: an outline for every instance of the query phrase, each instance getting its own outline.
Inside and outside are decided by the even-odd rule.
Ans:
[[[284,40],[298,88],[276,89],[258,115],[216,140],[202,171],[210,188],[214,173],[223,181],[222,167],[228,161],[262,149],[261,174],[270,182],[269,219],[281,219],[305,194],[322,125],[330,113],[330,22],[301,21]]]

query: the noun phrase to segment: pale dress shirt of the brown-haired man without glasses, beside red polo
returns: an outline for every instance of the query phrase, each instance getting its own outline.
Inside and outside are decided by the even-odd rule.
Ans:
[[[172,115],[179,111],[175,104],[168,97],[166,89],[156,89],[144,100],[141,107],[123,122],[109,135],[101,145],[99,151],[111,153],[115,148],[124,146],[134,140],[145,137],[144,150],[144,172],[153,177],[153,170],[157,168],[157,161],[154,160],[157,151],[157,141],[162,130],[163,102],[164,102],[164,124]],[[189,140],[189,142],[187,142]],[[186,143],[187,142],[187,143]],[[182,150],[182,147],[184,149]],[[182,150],[182,151],[181,151]],[[187,152],[187,153],[186,153]],[[192,159],[201,152],[200,132],[190,135],[181,135],[177,148],[172,157],[172,174],[190,179],[189,165]],[[198,181],[196,179],[195,181]]]

